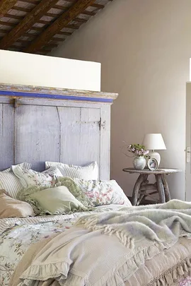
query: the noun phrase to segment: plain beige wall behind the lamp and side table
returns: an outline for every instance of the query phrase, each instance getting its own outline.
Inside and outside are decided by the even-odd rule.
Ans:
[[[162,133],[161,166],[183,169],[168,177],[173,198],[185,194],[185,82],[191,56],[190,0],[115,0],[52,53],[102,64],[104,91],[120,96],[112,106],[111,174],[127,194],[136,175],[122,141],[141,143]]]

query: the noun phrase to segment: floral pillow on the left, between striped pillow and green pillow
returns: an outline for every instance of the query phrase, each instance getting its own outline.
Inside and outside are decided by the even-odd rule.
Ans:
[[[44,172],[36,172],[33,169],[25,169],[20,166],[13,166],[12,169],[16,177],[21,180],[23,187],[33,185],[48,188],[56,183],[57,177],[62,177],[62,173],[56,167]]]

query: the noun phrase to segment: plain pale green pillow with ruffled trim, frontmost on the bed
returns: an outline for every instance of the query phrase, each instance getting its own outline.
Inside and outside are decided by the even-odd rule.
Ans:
[[[66,186],[43,189],[31,193],[30,196],[28,196],[28,199],[29,198],[36,201],[45,213],[50,213],[51,215],[72,213],[76,210],[87,210],[87,208],[72,195]]]

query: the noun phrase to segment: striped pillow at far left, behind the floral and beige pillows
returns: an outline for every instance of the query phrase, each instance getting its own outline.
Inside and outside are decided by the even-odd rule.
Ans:
[[[24,162],[17,166],[30,169],[32,165]],[[12,198],[16,198],[17,193],[23,189],[22,181],[13,174],[11,167],[0,172],[0,189],[6,190],[8,196]]]

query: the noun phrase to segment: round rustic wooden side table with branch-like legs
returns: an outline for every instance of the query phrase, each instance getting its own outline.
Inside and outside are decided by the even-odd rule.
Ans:
[[[159,196],[159,200],[155,199],[156,203],[169,201],[170,192],[165,174],[182,172],[181,169],[157,169],[156,171],[151,171],[150,169],[137,170],[134,168],[125,168],[122,170],[129,174],[139,174],[132,193],[132,205],[139,205],[141,201],[148,196],[153,198],[152,195],[155,193],[158,193]],[[147,178],[150,174],[154,174],[155,176],[156,182],[154,184],[149,184]]]

